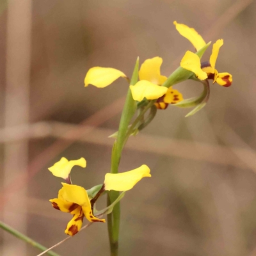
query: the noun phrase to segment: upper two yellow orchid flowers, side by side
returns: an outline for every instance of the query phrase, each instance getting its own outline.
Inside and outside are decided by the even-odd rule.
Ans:
[[[209,47],[211,42],[206,44],[202,36],[200,36],[193,28],[189,28],[184,24],[179,24],[176,21],[173,22],[173,24],[175,24],[180,35],[187,38],[196,49],[196,53],[187,51],[180,61],[181,68],[179,70],[179,75],[183,75],[183,77],[179,77],[179,82],[195,78],[200,81],[208,81],[208,79],[212,79],[213,83],[218,83],[225,87],[230,86],[232,84],[232,75],[227,72],[219,73],[215,68],[220,47],[223,45],[223,39],[219,39],[213,44],[210,60],[201,62],[200,57],[202,57],[202,54],[204,54],[204,51]],[[182,94],[178,90],[172,88],[173,84],[168,83],[170,82],[170,79],[161,75],[160,68],[162,63],[163,59],[159,57],[144,61],[139,72],[140,81],[130,85],[132,98],[138,102],[141,102],[142,100],[156,100],[154,105],[157,109],[166,109],[169,104],[181,108],[195,106],[198,103],[198,100],[194,100],[194,102],[191,102],[191,100],[184,101]],[[191,71],[190,76],[188,77],[188,73],[182,72],[182,69]],[[84,84],[85,86],[92,84],[97,88],[104,88],[119,77],[124,77],[129,81],[129,78],[122,71],[115,68],[93,67],[90,68],[86,74]],[[209,94],[209,92],[207,94]]]

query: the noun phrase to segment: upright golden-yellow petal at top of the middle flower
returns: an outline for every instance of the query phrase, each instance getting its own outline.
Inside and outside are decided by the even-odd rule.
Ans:
[[[145,60],[140,68],[140,80],[147,80],[153,84],[158,85],[163,84],[167,77],[161,76],[160,68],[162,63],[163,59],[159,57]]]

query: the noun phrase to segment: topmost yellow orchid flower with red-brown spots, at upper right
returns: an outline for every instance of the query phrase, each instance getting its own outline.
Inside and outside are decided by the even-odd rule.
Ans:
[[[184,24],[179,24],[176,21],[173,22],[173,24],[175,24],[175,27],[177,31],[179,31],[180,35],[187,38],[189,42],[193,44],[196,51],[199,51],[200,49],[202,49],[202,47],[204,47],[204,45],[206,45],[202,36],[200,36],[195,29],[189,28]],[[210,61],[198,63],[198,60],[200,61],[199,57],[196,56],[196,54],[194,54],[193,52],[189,52],[187,56],[185,55],[186,58],[184,56],[184,60],[181,61],[180,66],[194,72],[196,76],[198,76],[198,73],[200,73],[202,76],[198,76],[199,79],[202,79],[205,74],[207,74],[207,79],[213,79],[213,83],[218,83],[221,86],[228,87],[232,84],[232,75],[227,72],[219,73],[218,70],[216,70],[215,68],[216,60],[218,58],[220,47],[222,45],[223,39],[219,39],[216,41],[215,44],[213,44]],[[201,69],[201,71],[199,69]],[[202,72],[204,72],[204,74]]]

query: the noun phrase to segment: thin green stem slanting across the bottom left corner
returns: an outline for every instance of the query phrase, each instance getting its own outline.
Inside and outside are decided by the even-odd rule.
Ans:
[[[22,234],[19,231],[15,230],[14,228],[4,224],[2,221],[0,221],[0,228],[3,228],[3,230],[9,232],[13,236],[15,236],[15,237],[25,241],[26,243],[31,244],[32,246],[38,248],[42,252],[44,252],[45,250],[48,249],[45,246],[42,246],[42,244],[37,243],[36,241],[34,241],[33,239],[29,238],[28,236],[25,236],[24,234]],[[52,251],[47,252],[47,254],[51,255],[51,256],[60,256],[59,254],[57,254],[55,252],[52,252]]]

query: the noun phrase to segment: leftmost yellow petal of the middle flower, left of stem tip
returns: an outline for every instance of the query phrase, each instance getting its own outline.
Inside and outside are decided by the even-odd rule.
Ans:
[[[113,83],[119,77],[126,77],[123,72],[115,68],[90,68],[84,78],[85,86],[92,84],[98,88],[104,88]]]

